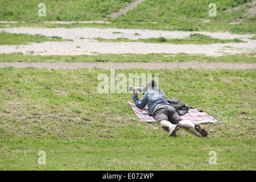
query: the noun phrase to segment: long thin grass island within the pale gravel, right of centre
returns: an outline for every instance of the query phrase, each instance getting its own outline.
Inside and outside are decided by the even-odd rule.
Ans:
[[[104,38],[94,38],[99,42],[145,42],[145,43],[169,43],[169,44],[216,44],[216,43],[241,43],[244,42],[240,39],[214,39],[208,35],[203,34],[191,34],[185,39],[166,39],[163,37],[159,38],[148,38],[148,39],[127,39],[127,38],[117,38],[117,39],[104,39]]]

